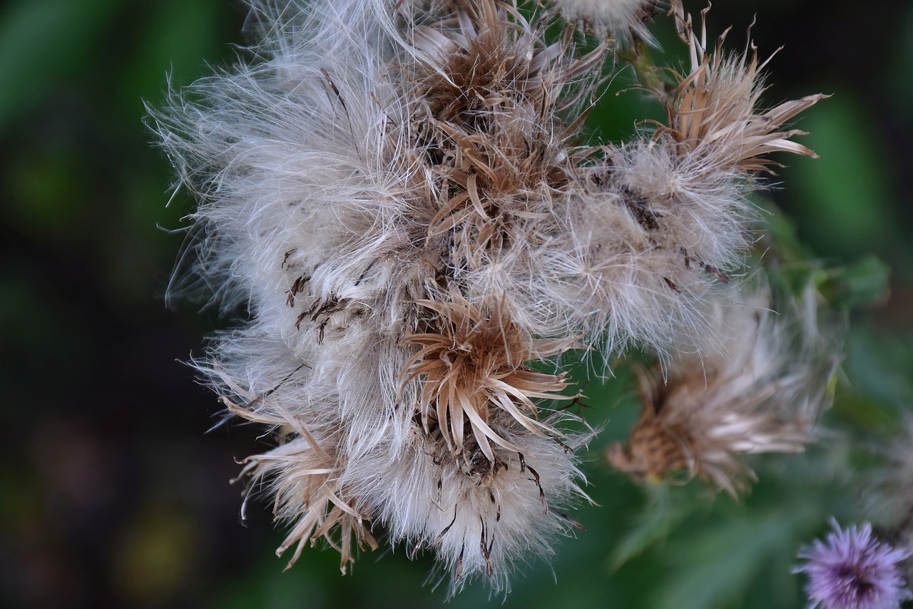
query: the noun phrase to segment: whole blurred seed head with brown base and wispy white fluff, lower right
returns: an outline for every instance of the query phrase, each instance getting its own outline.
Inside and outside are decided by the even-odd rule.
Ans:
[[[819,330],[813,294],[804,299],[803,319],[766,309],[763,294],[720,309],[718,350],[680,356],[666,383],[640,371],[642,414],[609,462],[636,478],[703,478],[736,497],[755,478],[744,456],[802,452],[840,359],[834,329]]]

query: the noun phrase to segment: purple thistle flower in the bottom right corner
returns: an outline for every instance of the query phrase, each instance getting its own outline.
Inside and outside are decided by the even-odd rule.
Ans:
[[[794,572],[808,574],[806,592],[814,607],[824,609],[897,609],[913,598],[901,576],[899,563],[910,556],[872,535],[872,525],[834,532],[824,541],[803,547],[799,558],[807,562]]]

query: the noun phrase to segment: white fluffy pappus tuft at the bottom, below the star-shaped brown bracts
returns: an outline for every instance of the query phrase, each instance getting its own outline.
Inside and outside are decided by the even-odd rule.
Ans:
[[[556,413],[545,422],[561,427],[572,419]],[[379,498],[378,519],[392,541],[413,556],[435,554],[450,593],[478,577],[508,592],[515,567],[550,555],[556,535],[583,530],[562,510],[589,500],[574,453],[592,432],[567,432],[560,442],[528,433],[507,415],[491,423],[519,452],[496,446],[492,462],[470,445],[455,457],[439,433],[416,428],[395,460],[385,451],[352,457],[359,467],[345,478],[348,488]]]

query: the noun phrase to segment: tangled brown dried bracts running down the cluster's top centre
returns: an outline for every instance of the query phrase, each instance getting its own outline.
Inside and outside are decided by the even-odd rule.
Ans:
[[[409,137],[435,207],[428,238],[451,236],[452,267],[484,272],[556,229],[569,141],[606,48],[573,57],[567,37],[545,44],[544,25],[509,3],[454,4],[446,27],[415,29]]]

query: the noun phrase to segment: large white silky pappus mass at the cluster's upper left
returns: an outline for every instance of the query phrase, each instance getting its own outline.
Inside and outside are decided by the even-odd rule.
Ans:
[[[417,249],[401,219],[408,166],[386,127],[409,110],[386,78],[392,51],[370,4],[256,13],[253,59],[152,110],[182,184],[201,200],[194,273],[218,286],[226,308],[249,302],[283,318],[289,341],[313,342],[300,326],[341,310],[330,302],[389,322],[401,312],[388,298],[403,283],[399,254]]]

